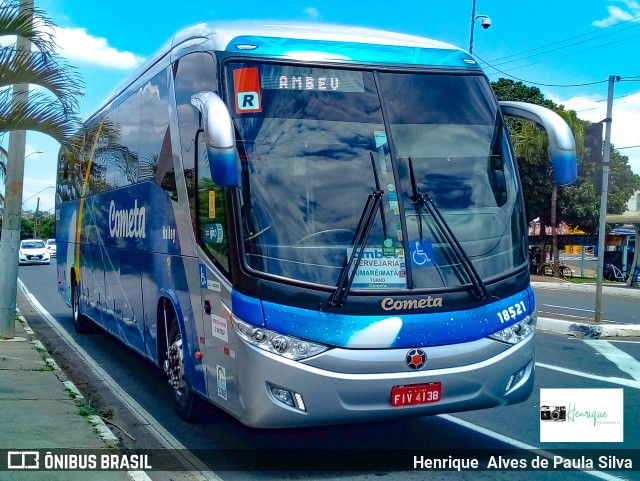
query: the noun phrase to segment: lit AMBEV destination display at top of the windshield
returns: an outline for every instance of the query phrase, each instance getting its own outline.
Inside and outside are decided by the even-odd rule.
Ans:
[[[265,90],[364,92],[362,72],[349,70],[290,67],[285,65],[263,66],[260,83]]]

